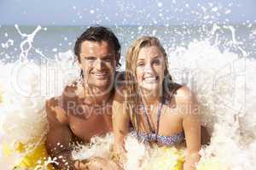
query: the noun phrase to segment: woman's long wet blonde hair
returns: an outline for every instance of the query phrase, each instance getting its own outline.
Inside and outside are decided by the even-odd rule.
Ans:
[[[126,113],[131,116],[131,122],[133,127],[138,132],[139,119],[137,116],[137,106],[141,101],[141,95],[139,94],[137,80],[136,80],[136,70],[137,70],[137,58],[140,50],[145,47],[157,47],[163,54],[165,71],[164,80],[162,84],[162,89],[160,89],[160,95],[168,94],[172,91],[172,77],[168,71],[168,59],[165,48],[162,47],[160,41],[157,37],[140,37],[135,42],[133,42],[128,48],[125,61],[125,110]]]

